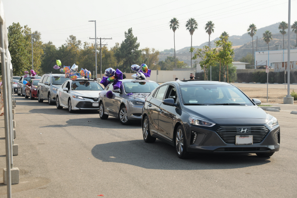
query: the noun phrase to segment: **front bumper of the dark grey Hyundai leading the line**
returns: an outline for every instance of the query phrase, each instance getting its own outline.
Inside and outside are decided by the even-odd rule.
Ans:
[[[261,125],[264,126],[264,125]],[[235,143],[226,143],[223,135],[219,135],[216,131],[201,129],[190,126],[187,130],[188,135],[193,132],[198,132],[197,140],[194,144],[188,145],[187,150],[190,152],[214,152],[214,153],[260,153],[260,152],[275,152],[280,149],[280,127],[265,126],[269,132],[261,142],[253,143],[252,145],[236,145]],[[243,134],[235,134],[243,135]],[[248,135],[248,134],[245,134]],[[189,137],[189,136],[188,136]],[[256,137],[254,135],[253,137]],[[192,136],[193,138],[193,136]],[[191,143],[191,136],[187,140]],[[226,140],[226,139],[225,139]]]

